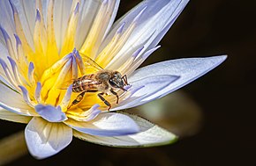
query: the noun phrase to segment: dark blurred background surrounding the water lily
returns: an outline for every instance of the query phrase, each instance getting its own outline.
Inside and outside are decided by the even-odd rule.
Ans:
[[[117,18],[138,3],[121,1]],[[8,165],[256,165],[255,9],[254,0],[192,0],[162,40],[162,48],[143,64],[229,55],[217,69],[182,90],[129,110],[179,135],[176,143],[107,148],[74,138],[53,157],[37,161],[24,155]],[[0,125],[1,138],[26,127],[4,120]]]

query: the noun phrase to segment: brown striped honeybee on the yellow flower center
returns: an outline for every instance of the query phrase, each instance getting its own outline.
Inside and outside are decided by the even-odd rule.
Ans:
[[[78,104],[87,92],[99,92],[97,96],[104,102],[105,105],[111,108],[111,104],[103,95],[115,95],[117,97],[117,104],[119,102],[118,94],[115,90],[124,90],[124,86],[129,85],[127,76],[122,76],[120,72],[102,69],[94,60],[87,56],[83,56],[85,66],[93,69],[93,74],[81,76],[72,81],[72,92],[79,93],[79,95],[72,101],[72,105]],[[70,107],[72,106],[70,105]]]

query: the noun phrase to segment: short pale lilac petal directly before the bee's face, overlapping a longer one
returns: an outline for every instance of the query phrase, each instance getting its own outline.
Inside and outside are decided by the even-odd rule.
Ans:
[[[122,103],[117,105],[116,108],[111,109],[111,111],[127,109],[139,103],[143,103],[145,98],[154,95],[159,90],[166,88],[169,84],[176,82],[178,79],[179,76],[160,75],[148,76],[131,82],[132,88],[130,88],[129,91],[132,94],[130,97],[125,98]]]

